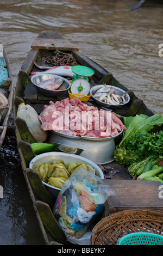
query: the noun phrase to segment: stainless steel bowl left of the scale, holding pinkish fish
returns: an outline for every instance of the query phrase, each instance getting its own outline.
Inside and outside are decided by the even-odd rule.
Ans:
[[[64,82],[61,84],[61,86],[59,87],[58,90],[48,90],[48,89],[41,88],[38,86],[38,84],[40,82],[48,80],[53,77],[58,77],[58,78],[64,79]],[[66,78],[57,76],[57,75],[53,75],[53,74],[47,74],[47,72],[46,72],[46,74],[39,74],[39,75],[32,76],[31,81],[39,93],[41,93],[44,96],[48,96],[48,97],[59,96],[60,94],[66,92],[71,87],[71,83]]]

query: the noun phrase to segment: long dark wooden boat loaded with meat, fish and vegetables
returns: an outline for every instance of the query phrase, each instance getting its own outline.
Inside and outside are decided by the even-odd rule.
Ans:
[[[112,84],[112,86],[119,87],[128,92],[130,95],[130,102],[127,106],[124,106],[121,109],[115,109],[115,114],[122,116],[134,116],[136,114],[143,113],[151,116],[153,115],[153,112],[147,108],[141,99],[135,96],[133,91],[128,90],[121,83],[119,83],[112,76],[112,74],[102,68],[102,66],[98,65],[97,63],[93,62],[93,60],[80,53],[79,49],[65,40],[65,38],[59,32],[43,31],[34,40],[32,44],[32,50],[30,50],[27,58],[24,60],[22,68],[18,74],[15,89],[14,123],[17,147],[20,155],[24,178],[26,179],[27,187],[32,198],[43,239],[47,245],[66,245],[66,237],[64,233],[62,233],[52,214],[54,200],[47,192],[45,186],[43,186],[39,174],[28,168],[29,162],[35,156],[30,145],[34,142],[34,140],[28,130],[26,123],[24,123],[21,118],[17,117],[17,108],[21,103],[28,103],[30,106],[34,107],[38,114],[40,114],[42,112],[43,106],[48,104],[50,100],[55,102],[56,100],[61,100],[63,98],[63,95],[59,96],[59,99],[54,99],[53,97],[45,97],[39,94],[29,79],[31,71],[42,71],[37,68],[36,65],[34,65],[33,60],[36,61],[36,63],[39,65],[46,65],[44,64],[45,58],[47,56],[51,56],[56,50],[56,47],[59,51],[72,53],[80,65],[87,66],[95,71],[95,74],[92,76],[92,80],[90,81],[91,86],[106,83]],[[66,96],[68,96],[68,94]],[[90,99],[89,103],[95,102]],[[112,162],[109,165],[116,166],[116,168],[121,170],[121,172],[117,173],[114,176],[115,178],[113,177],[110,181],[115,181],[114,179],[116,179],[118,184],[120,184],[121,181],[132,181],[132,178],[127,173],[126,168],[123,166],[118,166],[115,162]],[[127,184],[125,187],[127,187]]]

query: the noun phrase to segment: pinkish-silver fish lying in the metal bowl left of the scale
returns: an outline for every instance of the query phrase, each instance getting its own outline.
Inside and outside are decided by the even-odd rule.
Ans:
[[[45,81],[41,81],[39,84],[37,84],[37,86],[44,88],[44,89],[48,89],[48,90],[57,90],[62,82],[64,81],[63,78],[49,78]]]

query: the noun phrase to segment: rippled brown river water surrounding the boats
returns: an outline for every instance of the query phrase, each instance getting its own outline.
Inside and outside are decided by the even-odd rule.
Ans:
[[[30,45],[44,30],[59,31],[124,86],[133,89],[154,113],[162,114],[163,4],[148,2],[130,11],[136,0],[1,0],[0,41],[12,76]],[[43,245],[24,181],[11,115],[0,151],[0,245]]]

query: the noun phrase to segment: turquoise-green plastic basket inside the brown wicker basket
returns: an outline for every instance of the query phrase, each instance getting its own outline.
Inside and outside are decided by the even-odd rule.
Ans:
[[[117,245],[163,245],[163,236],[148,232],[135,232],[122,236],[118,239]]]

